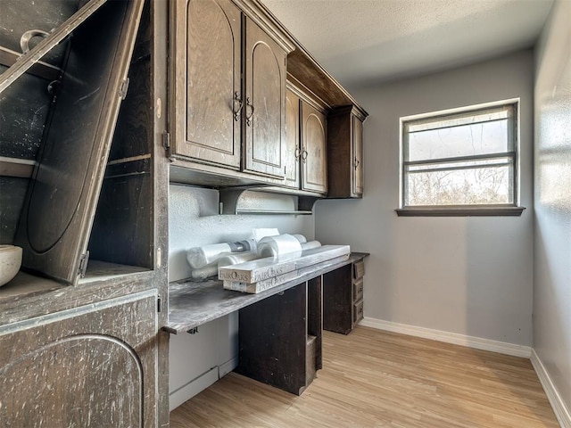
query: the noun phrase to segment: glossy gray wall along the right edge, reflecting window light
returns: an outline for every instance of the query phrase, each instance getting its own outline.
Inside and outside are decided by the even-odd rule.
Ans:
[[[571,412],[571,2],[554,5],[536,67],[534,350]]]

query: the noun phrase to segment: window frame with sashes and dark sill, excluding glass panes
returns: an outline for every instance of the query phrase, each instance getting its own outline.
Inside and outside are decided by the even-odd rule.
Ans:
[[[513,127],[511,134],[513,136],[513,150],[501,153],[488,153],[481,155],[470,156],[457,156],[448,158],[439,158],[434,160],[420,160],[408,161],[408,132],[406,128],[410,124],[418,124],[421,122],[430,122],[431,120],[437,121],[442,119],[459,116],[462,114],[474,113],[482,111],[492,111],[498,107],[510,106],[513,109]],[[492,103],[481,103],[460,107],[455,109],[448,109],[443,111],[431,111],[412,116],[402,117],[399,120],[400,130],[400,160],[399,160],[399,208],[396,211],[398,216],[427,216],[427,217],[443,217],[443,216],[520,216],[524,207],[520,205],[520,131],[519,131],[519,117],[520,117],[520,99],[511,98],[508,100],[501,100]],[[484,161],[497,159],[499,157],[511,157],[513,162],[512,181],[513,189],[511,190],[513,196],[512,203],[498,203],[498,204],[458,204],[458,205],[405,205],[406,201],[406,168],[410,165],[422,165],[423,163],[441,163],[452,161]],[[461,168],[451,168],[453,170],[460,170]]]

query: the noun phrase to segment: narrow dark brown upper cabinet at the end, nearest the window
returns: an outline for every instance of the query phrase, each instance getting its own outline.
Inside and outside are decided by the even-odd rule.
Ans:
[[[363,195],[363,121],[353,105],[336,108],[327,116],[329,198]]]

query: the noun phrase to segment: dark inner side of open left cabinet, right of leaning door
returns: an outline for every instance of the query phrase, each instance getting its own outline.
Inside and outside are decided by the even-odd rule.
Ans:
[[[88,244],[90,259],[153,268],[153,105],[145,5]],[[143,40],[143,41],[142,41]],[[135,56],[137,54],[137,56]]]

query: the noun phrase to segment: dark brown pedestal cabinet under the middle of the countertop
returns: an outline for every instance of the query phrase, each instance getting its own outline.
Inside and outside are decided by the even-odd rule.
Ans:
[[[301,395],[322,366],[321,276],[239,313],[236,372]]]

